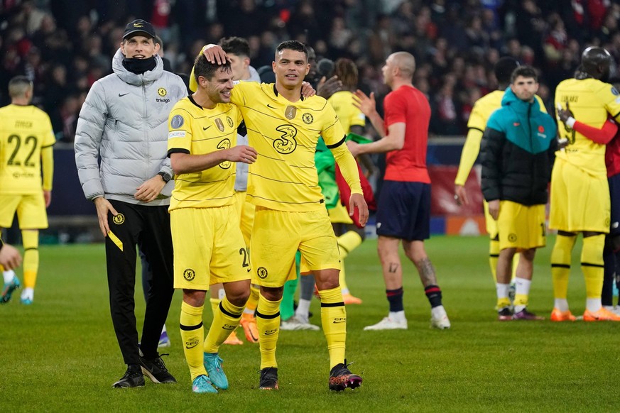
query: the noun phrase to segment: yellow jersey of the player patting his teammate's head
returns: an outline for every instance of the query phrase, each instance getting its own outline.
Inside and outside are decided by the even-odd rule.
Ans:
[[[249,167],[249,201],[281,211],[325,208],[315,167],[317,141],[322,136],[327,147],[344,144],[332,106],[316,96],[293,103],[274,84],[255,82],[236,84],[231,101],[243,114],[249,145],[259,153]],[[352,189],[361,193],[361,187]]]

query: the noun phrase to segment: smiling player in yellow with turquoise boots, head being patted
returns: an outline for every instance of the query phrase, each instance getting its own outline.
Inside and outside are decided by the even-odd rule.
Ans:
[[[230,63],[195,60],[197,90],[175,104],[169,116],[168,156],[175,172],[170,201],[175,288],[183,289],[180,331],[190,367],[192,390],[228,388],[219,346],[239,326],[250,291],[250,263],[235,205],[236,163],[253,163],[256,150],[236,145],[243,120],[229,103]],[[206,338],[202,310],[210,285],[222,282],[219,302]]]

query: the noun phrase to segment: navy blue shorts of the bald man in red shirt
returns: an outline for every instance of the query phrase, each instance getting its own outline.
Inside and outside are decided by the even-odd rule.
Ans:
[[[430,184],[384,181],[376,212],[376,233],[406,241],[430,237]]]

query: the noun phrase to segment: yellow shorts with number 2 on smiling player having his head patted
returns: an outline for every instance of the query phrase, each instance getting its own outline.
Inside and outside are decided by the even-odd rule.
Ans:
[[[170,211],[175,288],[209,290],[216,282],[249,280],[250,257],[236,206]]]

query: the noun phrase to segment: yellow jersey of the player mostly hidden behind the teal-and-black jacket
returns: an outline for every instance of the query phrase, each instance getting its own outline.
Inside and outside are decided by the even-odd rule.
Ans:
[[[484,95],[474,104],[472,113],[469,114],[469,121],[467,121],[467,129],[469,131],[463,145],[455,185],[465,185],[469,172],[471,172],[480,152],[480,143],[482,143],[482,134],[486,128],[486,121],[489,120],[494,111],[501,108],[501,99],[504,98],[504,92],[504,90],[495,90]],[[547,109],[545,104],[543,104],[543,99],[540,99],[538,95],[535,95],[535,98],[538,100],[538,104],[540,104],[540,111],[546,114]]]

